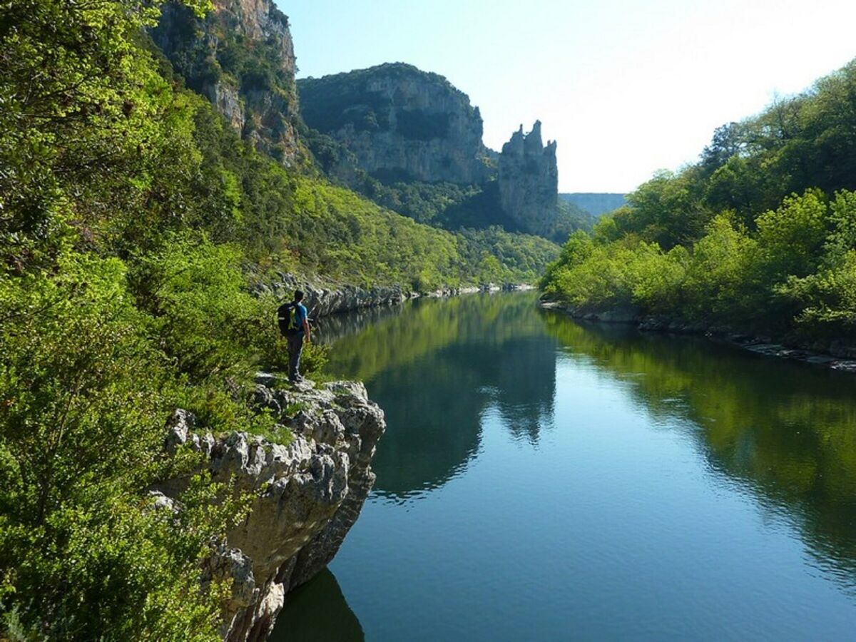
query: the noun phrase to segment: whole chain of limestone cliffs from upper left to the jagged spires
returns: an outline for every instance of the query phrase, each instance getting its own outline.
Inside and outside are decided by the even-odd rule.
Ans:
[[[556,146],[537,131],[489,150],[467,94],[401,62],[295,82],[288,17],[273,0],[214,6],[200,20],[167,5],[152,39],[260,151],[308,167],[310,150],[333,181],[420,223],[558,240],[579,227],[556,224]]]

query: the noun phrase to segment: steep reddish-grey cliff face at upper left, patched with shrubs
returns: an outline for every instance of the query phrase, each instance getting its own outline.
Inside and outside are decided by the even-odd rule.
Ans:
[[[272,0],[215,0],[205,20],[169,4],[152,39],[243,138],[282,163],[294,161],[294,43],[288,17]]]

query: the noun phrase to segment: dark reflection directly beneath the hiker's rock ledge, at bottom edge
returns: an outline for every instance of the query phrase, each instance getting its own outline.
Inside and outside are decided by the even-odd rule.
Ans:
[[[336,576],[324,568],[306,585],[288,593],[268,642],[362,642],[360,621],[348,606]]]

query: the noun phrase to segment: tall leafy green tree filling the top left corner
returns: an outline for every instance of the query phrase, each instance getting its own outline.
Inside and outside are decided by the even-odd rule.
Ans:
[[[206,3],[190,0],[196,9]],[[169,86],[136,43],[158,4],[21,0],[0,5],[0,251],[30,265],[122,210],[157,165]]]

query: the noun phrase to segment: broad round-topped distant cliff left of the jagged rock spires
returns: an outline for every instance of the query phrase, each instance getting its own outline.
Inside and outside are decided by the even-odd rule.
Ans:
[[[474,184],[488,175],[479,108],[443,76],[399,62],[297,86],[306,124],[376,178]]]

